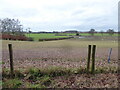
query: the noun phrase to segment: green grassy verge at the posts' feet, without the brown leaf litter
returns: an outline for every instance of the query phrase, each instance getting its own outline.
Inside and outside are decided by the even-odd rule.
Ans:
[[[95,71],[95,74],[101,73],[117,73],[117,70],[114,70],[113,68],[109,70],[99,68]],[[90,75],[84,68],[63,67],[48,67],[44,69],[30,68],[25,71],[15,70],[14,79],[10,78],[10,71],[8,69],[3,69],[2,74],[3,88],[47,88],[54,83],[55,77],[66,77],[78,74]]]

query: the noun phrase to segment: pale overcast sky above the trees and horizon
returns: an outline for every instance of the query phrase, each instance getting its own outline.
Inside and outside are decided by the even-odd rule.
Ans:
[[[0,18],[18,19],[24,30],[118,31],[119,0],[0,0]]]

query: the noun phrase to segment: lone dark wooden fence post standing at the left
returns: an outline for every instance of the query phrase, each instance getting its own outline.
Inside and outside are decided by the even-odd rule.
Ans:
[[[9,48],[9,57],[10,57],[10,74],[11,74],[11,77],[13,78],[14,67],[13,67],[13,51],[12,51],[12,44],[8,44],[8,48]]]

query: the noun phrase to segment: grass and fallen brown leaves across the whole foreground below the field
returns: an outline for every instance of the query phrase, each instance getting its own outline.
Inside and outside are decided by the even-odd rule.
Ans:
[[[103,80],[103,78],[106,77],[106,75],[112,75],[112,80],[116,82],[115,77],[117,77],[117,70],[114,69],[97,69],[93,74],[87,73],[86,69],[83,69],[81,67],[79,68],[63,68],[63,67],[48,67],[48,68],[30,68],[28,70],[15,70],[14,78],[10,78],[10,71],[8,69],[3,69],[3,88],[70,88],[72,85],[72,88],[83,88],[83,87],[90,87],[91,82],[88,81],[77,81],[75,80],[75,76],[78,77],[78,75],[82,75],[82,77],[89,79],[93,78],[96,81]],[[102,75],[103,77],[98,76]],[[110,76],[109,76],[110,77]],[[65,82],[65,85],[61,86],[62,82],[57,83],[57,79],[63,79],[66,80],[65,82],[68,82],[67,84]],[[70,79],[71,78],[71,79]],[[68,79],[68,80],[67,80]],[[104,80],[105,85],[108,85],[108,81]],[[92,82],[95,84],[95,82]],[[111,83],[111,82],[110,82]],[[88,84],[86,86],[86,84]],[[98,83],[100,84],[100,83]],[[92,87],[96,87],[96,85],[93,85]],[[101,86],[97,86],[101,87]],[[96,88],[97,88],[96,87]],[[103,86],[102,86],[103,87]],[[101,88],[102,88],[101,87]],[[117,83],[111,85],[111,86],[105,86],[105,87],[112,87],[116,88]]]

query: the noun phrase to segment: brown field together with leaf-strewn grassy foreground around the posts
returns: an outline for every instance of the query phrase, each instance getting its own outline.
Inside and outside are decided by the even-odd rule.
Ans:
[[[15,78],[9,77],[7,45],[13,44]],[[96,45],[96,73],[86,73],[88,45]],[[108,53],[112,48],[111,60]],[[3,87],[117,88],[117,37],[29,42],[2,41]]]

